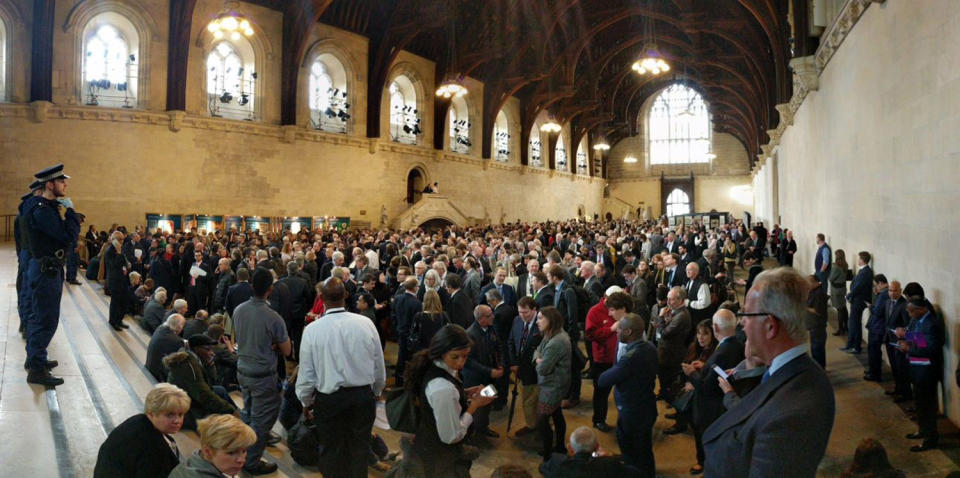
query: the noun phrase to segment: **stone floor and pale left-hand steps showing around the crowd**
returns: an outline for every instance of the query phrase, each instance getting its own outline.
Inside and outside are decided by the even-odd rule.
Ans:
[[[60,327],[50,345],[52,358],[60,361],[56,372],[66,379],[55,390],[28,385],[23,371],[24,347],[17,333],[16,257],[11,244],[0,245],[0,463],[3,476],[72,477],[91,476],[97,450],[106,434],[124,419],[138,413],[153,379],[142,366],[149,339],[137,327],[114,332],[107,326],[108,298],[97,284],[65,285]],[[129,320],[129,319],[128,319]],[[837,476],[864,437],[875,437],[886,447],[891,462],[910,477],[942,477],[960,469],[960,434],[946,419],[940,420],[943,448],[923,454],[907,449],[915,442],[904,435],[915,431],[904,409],[884,394],[882,386],[861,379],[865,357],[853,357],[837,349],[841,341],[828,342],[828,374],[837,397],[837,418],[819,476]],[[394,355],[393,347],[387,356]],[[887,375],[889,377],[889,374]],[[589,425],[593,393],[584,381],[582,404],[565,413],[567,430]],[[239,402],[239,396],[236,397]],[[909,403],[907,405],[910,405]],[[688,476],[694,463],[693,437],[687,434],[664,436],[661,430],[670,424],[661,418],[655,429],[654,452],[660,476]],[[607,422],[616,423],[612,406]],[[506,409],[494,412],[491,428],[504,435]],[[523,425],[517,413],[514,428]],[[277,431],[279,431],[277,425]],[[399,436],[381,431],[392,449]],[[599,433],[604,448],[616,452],[613,433]],[[181,451],[192,453],[198,446],[193,433],[176,436]],[[784,443],[783,446],[789,446]],[[501,437],[490,442],[489,449],[476,461],[472,476],[487,477],[504,463],[521,463],[533,476],[536,443],[532,438]],[[316,477],[320,474],[303,468],[290,458],[281,444],[268,449],[268,460],[280,465],[274,476]],[[372,472],[371,476],[381,476]]]

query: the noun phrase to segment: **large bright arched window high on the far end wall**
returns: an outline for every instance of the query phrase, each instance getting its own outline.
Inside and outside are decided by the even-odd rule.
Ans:
[[[674,84],[663,90],[653,100],[648,124],[650,164],[710,161],[710,116],[693,89]]]

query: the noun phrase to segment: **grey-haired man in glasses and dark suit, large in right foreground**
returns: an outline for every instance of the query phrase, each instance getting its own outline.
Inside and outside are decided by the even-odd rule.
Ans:
[[[797,271],[781,267],[760,274],[747,293],[747,342],[769,368],[703,432],[704,476],[816,476],[836,404],[826,372],[807,354],[808,289]]]

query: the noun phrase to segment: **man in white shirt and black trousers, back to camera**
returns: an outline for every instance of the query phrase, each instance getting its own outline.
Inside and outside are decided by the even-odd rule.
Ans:
[[[341,280],[327,279],[321,292],[327,310],[304,329],[297,397],[326,440],[321,473],[365,478],[376,396],[386,384],[380,337],[370,319],[344,310]]]

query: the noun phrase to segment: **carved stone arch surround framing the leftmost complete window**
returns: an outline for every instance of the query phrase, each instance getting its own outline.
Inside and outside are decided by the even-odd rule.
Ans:
[[[137,31],[137,108],[150,107],[151,46],[160,42],[160,29],[149,11],[136,0],[81,0],[67,14],[63,22],[64,33],[73,32],[73,98],[82,103],[83,98],[83,44],[87,25],[104,13],[123,17]]]

